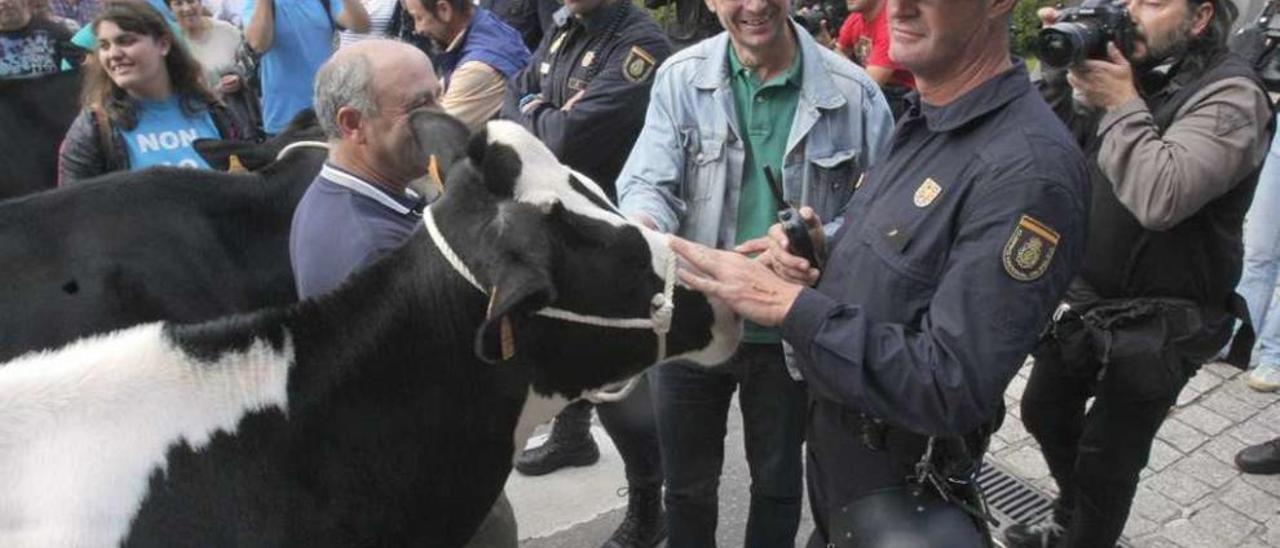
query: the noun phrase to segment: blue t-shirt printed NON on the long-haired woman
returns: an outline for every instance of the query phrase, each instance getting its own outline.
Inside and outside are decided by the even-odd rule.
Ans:
[[[197,138],[221,138],[207,110],[187,115],[177,95],[160,101],[138,101],[138,125],[120,134],[131,169],[152,165],[209,169],[191,143]]]

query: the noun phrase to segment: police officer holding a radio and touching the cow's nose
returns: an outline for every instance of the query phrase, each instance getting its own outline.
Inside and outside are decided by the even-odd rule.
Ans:
[[[1009,58],[1015,3],[890,4],[919,91],[829,246],[803,211],[831,248],[820,271],[778,225],[754,260],[673,243],[686,283],[795,348],[810,547],[989,543],[978,466],[1083,257],[1088,205],[1083,155]]]

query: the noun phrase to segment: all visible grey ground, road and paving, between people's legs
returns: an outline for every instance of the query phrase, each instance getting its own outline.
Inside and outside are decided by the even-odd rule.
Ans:
[[[1048,467],[1018,419],[1029,371],[1024,366],[1005,393],[1009,416],[988,458],[1052,494],[1056,485]],[[513,474],[508,480],[521,548],[595,548],[622,520],[626,498],[617,493],[625,484],[622,463],[608,435],[599,426],[593,431],[603,453],[595,466],[544,478]],[[1130,545],[1280,547],[1280,476],[1243,475],[1231,465],[1240,448],[1275,437],[1280,437],[1280,396],[1253,392],[1228,365],[1202,367],[1156,439],[1125,528]],[[742,545],[749,478],[735,405],[721,479],[721,547]],[[810,528],[806,511],[797,544]]]

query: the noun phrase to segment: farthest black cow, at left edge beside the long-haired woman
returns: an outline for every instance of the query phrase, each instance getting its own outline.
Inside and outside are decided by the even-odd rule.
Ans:
[[[0,79],[0,200],[58,184],[58,149],[79,114],[79,70]]]

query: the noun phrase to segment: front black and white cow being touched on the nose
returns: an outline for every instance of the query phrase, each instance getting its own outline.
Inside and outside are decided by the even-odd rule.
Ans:
[[[461,545],[518,423],[558,410],[534,403],[660,350],[730,357],[736,318],[673,286],[666,237],[518,125],[468,156],[426,228],[333,293],[0,366],[0,545]]]

